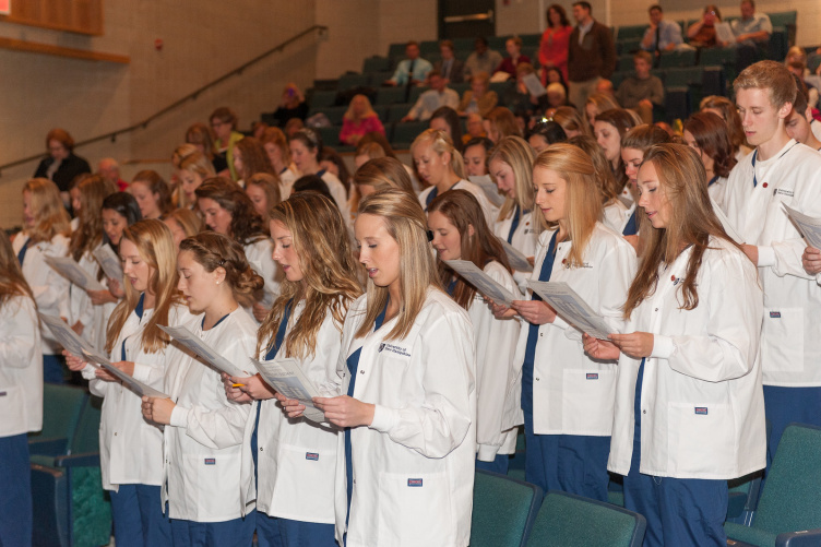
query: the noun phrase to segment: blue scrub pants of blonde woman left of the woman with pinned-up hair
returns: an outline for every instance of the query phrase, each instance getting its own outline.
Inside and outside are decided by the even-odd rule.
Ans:
[[[158,486],[120,485],[119,491],[109,494],[117,547],[171,544],[171,523],[163,514]]]

